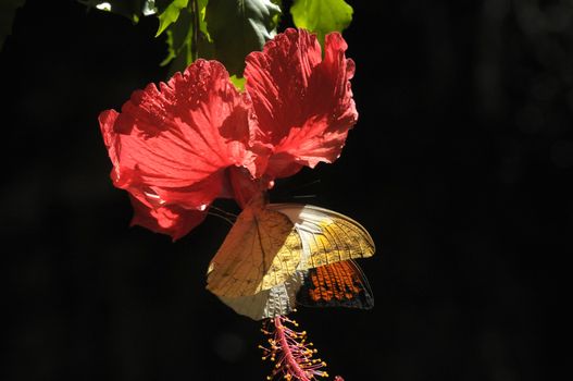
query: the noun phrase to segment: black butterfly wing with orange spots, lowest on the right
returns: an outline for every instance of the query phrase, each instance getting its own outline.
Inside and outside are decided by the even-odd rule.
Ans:
[[[374,296],[366,276],[350,259],[308,270],[297,293],[297,304],[371,309]]]

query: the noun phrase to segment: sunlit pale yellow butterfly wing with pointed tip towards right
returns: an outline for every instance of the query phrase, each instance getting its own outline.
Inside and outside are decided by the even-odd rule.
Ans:
[[[298,270],[314,269],[348,259],[374,255],[374,241],[357,221],[312,205],[271,204],[295,224],[303,254]]]

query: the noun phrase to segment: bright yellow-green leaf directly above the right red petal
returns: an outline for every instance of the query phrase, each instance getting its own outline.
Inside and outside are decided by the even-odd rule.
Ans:
[[[315,33],[321,45],[324,36],[342,32],[352,21],[352,7],[344,0],[295,0],[290,13],[295,25]]]

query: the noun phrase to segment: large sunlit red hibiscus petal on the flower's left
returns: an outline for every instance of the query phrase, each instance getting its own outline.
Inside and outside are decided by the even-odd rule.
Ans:
[[[121,113],[108,110],[99,120],[115,186],[152,208],[146,216],[163,224],[183,220],[189,225],[174,216],[204,209],[216,198],[225,168],[256,173],[257,157],[246,149],[252,140],[250,99],[236,90],[219,62],[197,61],[160,90],[148,85]],[[150,229],[174,234],[175,225],[157,226]]]

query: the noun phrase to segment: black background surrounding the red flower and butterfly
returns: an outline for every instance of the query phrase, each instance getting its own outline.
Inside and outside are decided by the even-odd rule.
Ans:
[[[279,183],[275,199],[313,194],[368,228],[376,306],[297,319],[347,381],[551,379],[557,270],[573,253],[572,5],[351,3],[360,121],[336,163]],[[97,116],[165,78],[155,28],[75,1],[17,12],[0,53],[2,380],[270,370],[260,324],[204,290],[225,222],[176,243],[129,229],[109,179]]]

